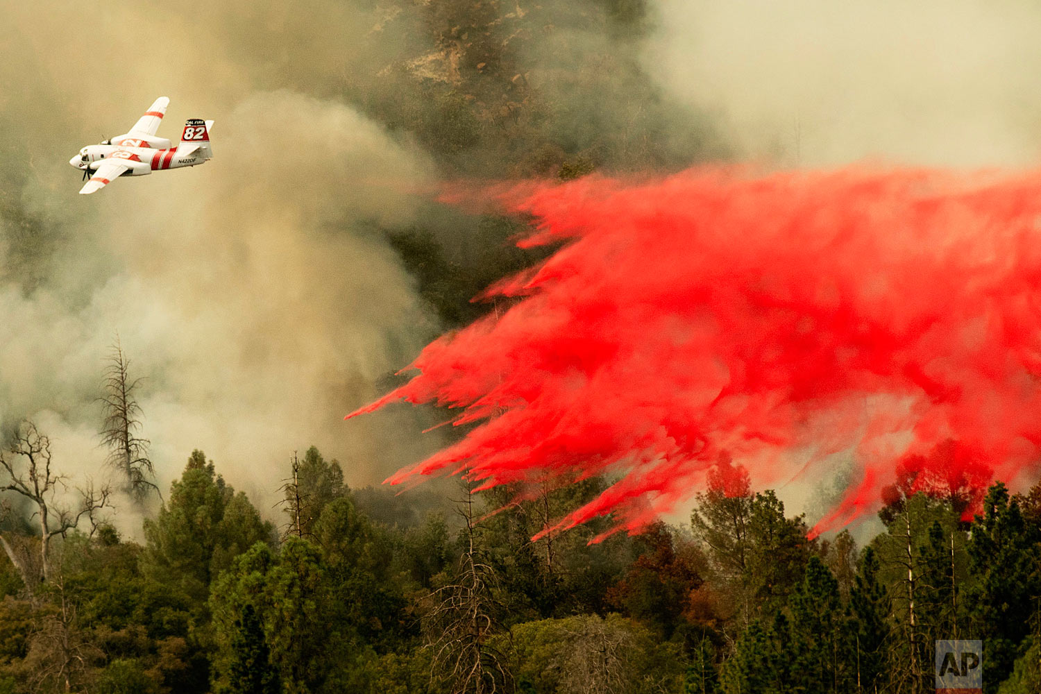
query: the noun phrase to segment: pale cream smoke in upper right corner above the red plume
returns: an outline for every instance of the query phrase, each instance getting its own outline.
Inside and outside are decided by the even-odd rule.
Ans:
[[[649,71],[741,156],[1029,165],[1041,8],[1023,0],[658,2]]]

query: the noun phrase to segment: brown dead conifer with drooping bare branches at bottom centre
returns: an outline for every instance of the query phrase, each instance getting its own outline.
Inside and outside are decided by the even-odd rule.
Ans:
[[[501,607],[494,598],[494,569],[481,560],[479,529],[474,515],[472,485],[459,515],[464,522],[463,552],[456,580],[430,594],[432,606],[424,619],[433,640],[431,677],[440,677],[452,694],[508,692],[513,683],[505,657],[489,643],[499,629]]]

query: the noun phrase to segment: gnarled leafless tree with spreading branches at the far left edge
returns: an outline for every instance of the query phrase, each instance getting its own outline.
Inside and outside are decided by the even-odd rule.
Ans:
[[[31,421],[24,421],[15,433],[7,451],[0,452],[0,492],[19,494],[34,507],[32,519],[40,528],[40,571],[42,575],[28,573],[30,565],[17,560],[10,543],[3,542],[4,551],[22,573],[26,588],[50,579],[49,555],[51,540],[66,534],[79,524],[84,516],[97,521],[97,513],[108,506],[110,490],[107,486],[95,489],[88,483],[86,489],[79,490],[80,504],[76,511],[58,506],[55,496],[58,490],[67,491],[67,478],[51,469],[51,442],[40,433]]]

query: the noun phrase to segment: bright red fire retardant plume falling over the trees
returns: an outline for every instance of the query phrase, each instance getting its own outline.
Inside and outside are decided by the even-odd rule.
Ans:
[[[479,422],[392,484],[608,473],[557,528],[636,530],[720,460],[757,486],[844,466],[819,532],[896,483],[971,506],[1038,461],[1041,173],[703,170],[500,200],[537,221],[522,246],[562,247],[354,413],[405,400]]]

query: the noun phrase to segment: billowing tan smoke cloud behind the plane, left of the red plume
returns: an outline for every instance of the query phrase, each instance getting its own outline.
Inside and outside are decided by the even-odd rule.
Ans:
[[[330,96],[355,57],[336,42],[371,28],[363,14],[243,3],[256,27],[244,35],[227,5],[170,18],[129,2],[4,4],[3,426],[40,420],[59,469],[103,478],[96,399],[118,334],[146,377],[143,435],[162,488],[194,447],[262,507],[296,448],[356,461],[353,484],[417,455],[392,435],[397,417],[337,416],[435,329],[380,232],[414,222],[431,164]],[[318,27],[325,54],[259,41]],[[215,158],[78,196],[68,158],[160,95],[172,105],[159,134],[213,118]]]

